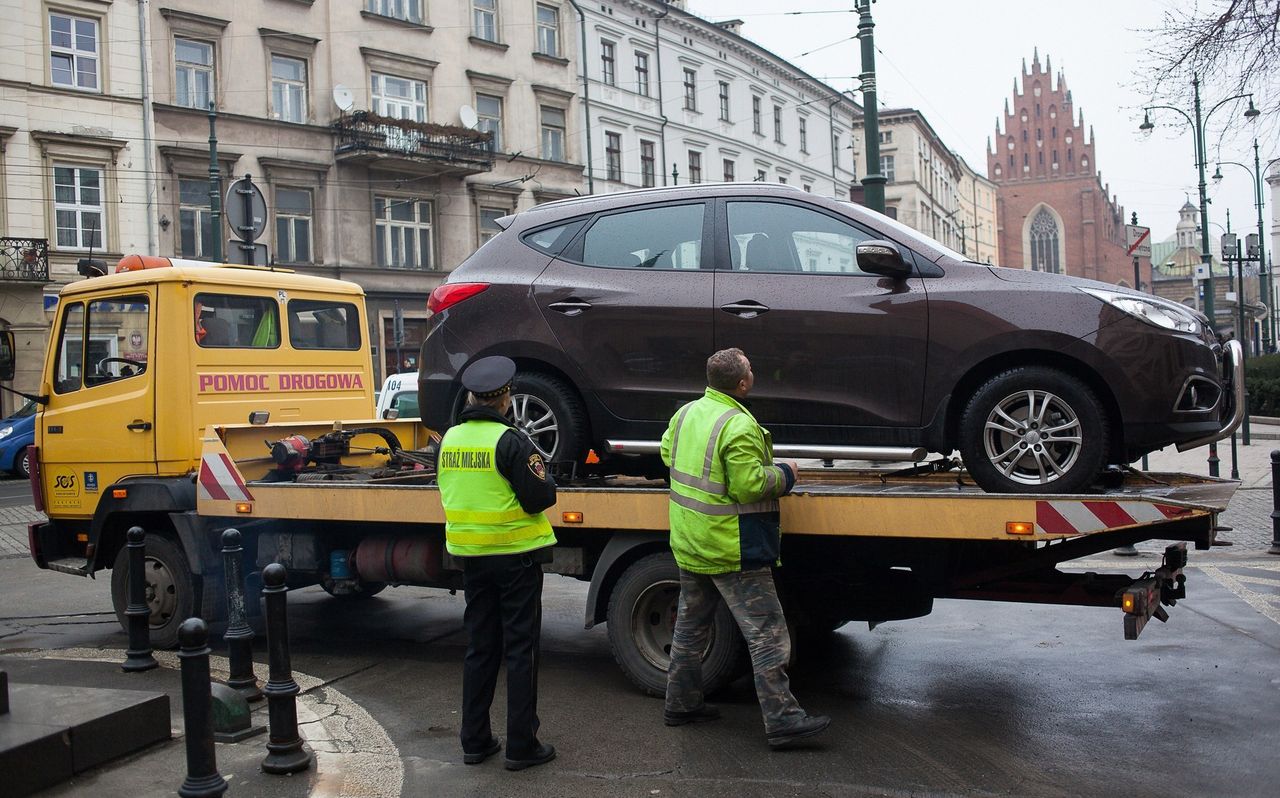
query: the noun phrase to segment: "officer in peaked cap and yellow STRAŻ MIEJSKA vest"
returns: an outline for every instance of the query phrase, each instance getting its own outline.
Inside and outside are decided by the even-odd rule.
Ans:
[[[462,761],[479,765],[502,749],[489,706],[506,660],[506,767],[524,770],[556,758],[556,748],[538,740],[541,564],[556,543],[543,510],[556,503],[556,480],[529,437],[507,419],[515,375],[516,364],[498,356],[462,373],[467,403],[440,441],[436,470],[445,548],[462,558],[467,602]]]

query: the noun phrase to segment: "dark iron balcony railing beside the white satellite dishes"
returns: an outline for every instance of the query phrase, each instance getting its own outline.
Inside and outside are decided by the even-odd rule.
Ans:
[[[338,140],[334,152],[338,155],[380,152],[480,170],[493,168],[489,138],[467,128],[452,132],[448,126],[422,126],[357,111],[335,122],[333,131]]]

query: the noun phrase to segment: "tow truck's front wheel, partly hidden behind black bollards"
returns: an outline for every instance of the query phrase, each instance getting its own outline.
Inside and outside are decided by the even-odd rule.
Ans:
[[[187,565],[182,546],[172,539],[146,537],[147,606],[151,607],[151,644],[173,648],[178,644],[178,626],[196,614],[198,587]],[[128,629],[124,610],[129,605],[129,550],[122,546],[111,567],[111,605],[120,626]]]

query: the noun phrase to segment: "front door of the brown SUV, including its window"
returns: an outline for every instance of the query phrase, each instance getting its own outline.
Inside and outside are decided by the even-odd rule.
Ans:
[[[722,201],[717,229],[716,348],[746,352],[753,412],[778,442],[920,425],[924,286],[858,268],[856,245],[879,234],[803,200],[746,197]]]

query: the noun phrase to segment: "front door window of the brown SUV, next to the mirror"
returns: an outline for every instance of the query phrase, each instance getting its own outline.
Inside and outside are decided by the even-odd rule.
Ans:
[[[873,236],[785,202],[728,202],[730,250],[740,272],[867,274],[854,250]]]

